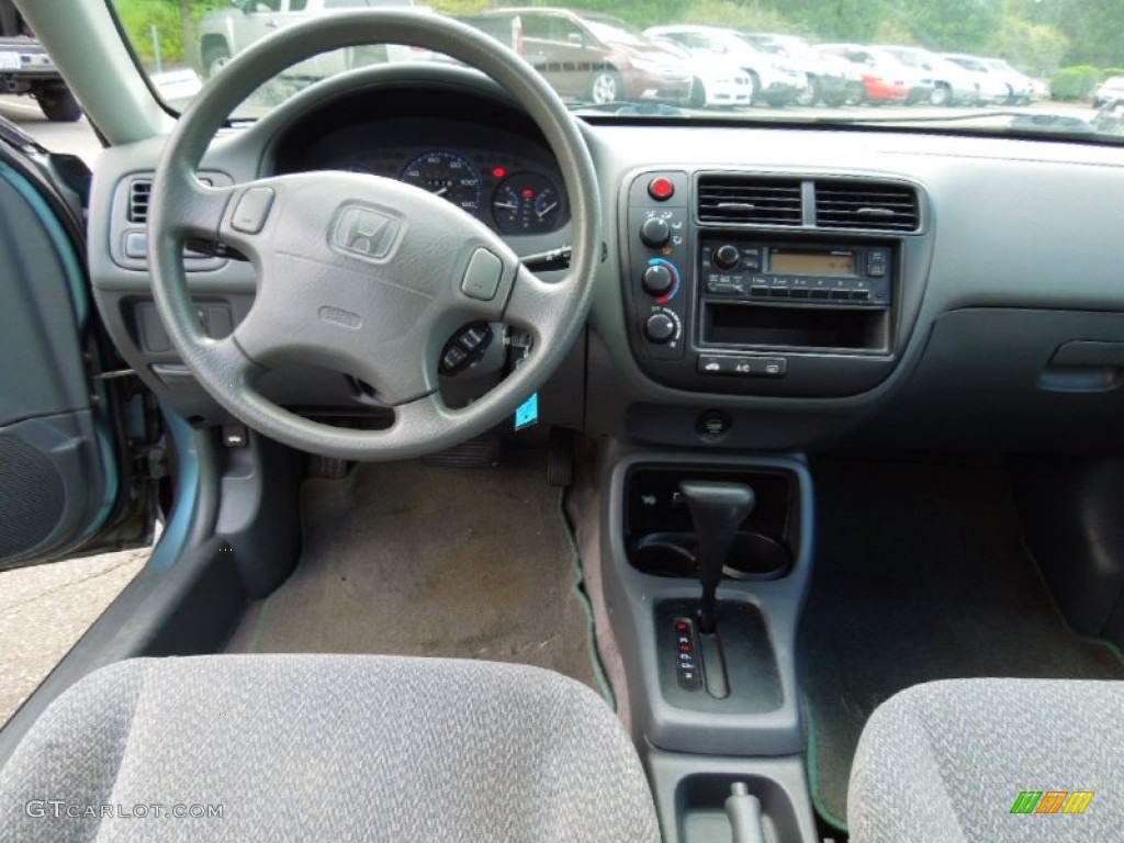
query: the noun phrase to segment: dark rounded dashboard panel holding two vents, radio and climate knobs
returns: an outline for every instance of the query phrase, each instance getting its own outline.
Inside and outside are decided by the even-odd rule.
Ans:
[[[629,342],[653,380],[839,397],[892,370],[925,274],[916,185],[650,170],[622,215]]]

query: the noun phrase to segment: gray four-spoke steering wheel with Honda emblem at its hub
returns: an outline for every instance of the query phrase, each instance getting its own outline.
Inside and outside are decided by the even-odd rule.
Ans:
[[[314,172],[208,187],[197,169],[228,115],[259,85],[319,53],[395,43],[445,53],[507,89],[542,130],[569,194],[573,244],[558,281],[536,278],[480,220],[424,190],[375,175]],[[184,275],[190,237],[246,255],[257,291],[234,333],[202,332]],[[217,74],[164,147],[148,223],[153,293],[183,362],[248,427],[292,447],[346,460],[438,451],[505,419],[558,368],[580,335],[600,243],[592,161],[574,118],[543,78],[489,36],[438,15],[343,11],[279,30]],[[461,409],[437,384],[446,341],[472,321],[526,329],[532,351],[500,384]],[[288,361],[371,384],[395,410],[380,430],[335,427],[264,398],[255,380]]]

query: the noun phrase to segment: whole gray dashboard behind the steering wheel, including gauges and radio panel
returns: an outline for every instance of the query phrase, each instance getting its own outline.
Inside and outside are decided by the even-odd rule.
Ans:
[[[533,121],[462,69],[397,73],[298,94],[223,133],[202,169],[233,182],[372,173],[439,193],[517,254],[564,247],[565,189]],[[611,116],[581,128],[604,260],[586,341],[542,391],[544,425],[718,451],[1120,447],[1121,149]],[[117,254],[139,230],[133,193],[160,153],[149,139],[99,161],[94,294],[146,383],[197,424],[220,424],[155,336],[143,250]],[[253,302],[253,268],[185,265],[215,335],[228,333]],[[372,410],[323,372],[287,372],[270,397]]]

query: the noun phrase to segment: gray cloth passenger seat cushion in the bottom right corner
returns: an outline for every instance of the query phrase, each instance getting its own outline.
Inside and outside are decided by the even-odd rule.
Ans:
[[[1094,796],[1082,814],[1013,814],[1023,791]],[[915,686],[874,710],[847,790],[852,843],[1121,840],[1121,817],[1124,682]]]

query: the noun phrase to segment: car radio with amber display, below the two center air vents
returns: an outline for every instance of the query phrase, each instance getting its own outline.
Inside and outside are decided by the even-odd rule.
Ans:
[[[707,298],[804,307],[889,307],[891,250],[705,237],[700,292]]]

